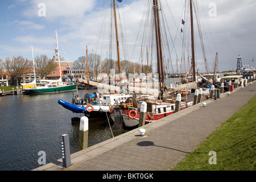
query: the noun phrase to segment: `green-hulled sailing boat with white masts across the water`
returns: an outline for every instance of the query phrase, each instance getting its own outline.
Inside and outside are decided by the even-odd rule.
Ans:
[[[59,46],[57,40],[57,31],[55,30],[56,34],[56,53],[59,60],[59,68],[60,68],[60,55],[59,55]],[[33,56],[33,63],[34,63],[34,56]],[[35,66],[34,66],[34,74],[35,74]],[[41,80],[41,82],[46,82],[43,86],[35,86],[32,89],[27,89],[26,94],[48,94],[48,93],[61,93],[61,92],[70,92],[76,90],[76,84],[63,82],[61,78],[61,70],[60,70],[60,78],[59,80]],[[42,84],[42,83],[41,83]]]

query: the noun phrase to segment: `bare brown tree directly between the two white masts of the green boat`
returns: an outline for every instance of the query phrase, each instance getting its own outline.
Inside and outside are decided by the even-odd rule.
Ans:
[[[46,55],[36,56],[35,58],[35,69],[42,79],[54,71],[57,66]]]

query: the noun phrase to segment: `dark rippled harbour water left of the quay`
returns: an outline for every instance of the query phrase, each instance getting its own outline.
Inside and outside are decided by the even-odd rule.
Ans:
[[[89,94],[97,90],[88,90]],[[79,96],[84,96],[79,90]],[[46,163],[61,158],[60,135],[68,134],[71,154],[78,151],[79,123],[72,113],[59,105],[59,99],[71,102],[72,92],[37,96],[0,97],[0,170],[31,170],[40,167],[39,151],[46,152]],[[111,121],[111,119],[110,119]],[[113,122],[112,122],[113,124]],[[115,132],[114,136],[122,132]],[[107,119],[89,119],[88,146],[112,138]]]

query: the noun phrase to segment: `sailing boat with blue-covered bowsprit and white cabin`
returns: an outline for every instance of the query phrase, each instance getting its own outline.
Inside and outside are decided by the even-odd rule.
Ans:
[[[117,28],[117,15],[115,10],[115,0],[113,0],[113,9],[115,16],[115,35],[117,40],[117,56],[118,56],[118,68],[119,68],[119,83],[120,86],[106,85],[101,84],[94,81],[89,81],[88,77],[88,48],[86,46],[86,63],[87,63],[87,80],[83,80],[80,78],[77,80],[80,84],[84,84],[86,86],[93,86],[95,88],[105,88],[108,87],[110,93],[96,93],[93,94],[85,94],[84,99],[80,98],[78,95],[73,96],[72,103],[69,103],[64,100],[59,100],[58,103],[65,107],[68,110],[73,111],[74,113],[85,113],[88,117],[105,115],[106,113],[110,113],[113,110],[115,104],[124,103],[127,98],[131,97],[131,94],[124,93],[124,89],[122,89],[122,71],[121,71],[121,59],[119,53],[119,41],[118,41],[118,28]]]

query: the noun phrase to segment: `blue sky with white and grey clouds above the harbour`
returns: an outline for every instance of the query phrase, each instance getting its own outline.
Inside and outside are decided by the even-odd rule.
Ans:
[[[23,56],[32,60],[34,56],[55,53],[58,34],[60,56],[65,60],[75,61],[80,56],[96,52],[102,60],[108,56],[109,40],[102,26],[106,14],[106,2],[109,0],[0,0],[0,59]],[[117,2],[121,16],[124,40],[127,43],[127,57],[138,61],[137,52],[141,39],[138,34],[145,2],[150,0],[123,0]],[[184,14],[185,0],[159,0],[162,10],[171,11],[167,16],[172,39],[183,28],[180,18]],[[168,3],[168,7],[166,6]],[[256,1],[255,0],[197,0],[200,14],[201,31],[209,69],[212,70],[216,52],[218,52],[218,70],[236,69],[237,57],[242,57],[243,64],[254,63],[256,59]],[[169,10],[168,10],[169,8]],[[161,11],[162,11],[161,10]],[[188,23],[187,20],[185,23]],[[197,27],[196,25],[194,25]],[[185,30],[184,30],[185,31]],[[100,34],[101,32],[101,34]],[[100,38],[99,38],[100,37]],[[179,37],[179,36],[177,36]],[[205,65],[201,54],[199,35],[195,35],[197,67],[204,71]],[[134,46],[134,45],[137,46]],[[171,43],[170,43],[171,44]],[[182,39],[175,39],[176,52],[170,59],[181,57]],[[174,49],[174,47],[171,47]],[[134,58],[135,57],[135,58]],[[121,53],[121,59],[127,59]],[[174,64],[176,60],[174,61]]]

